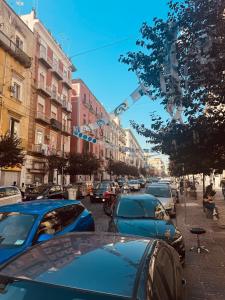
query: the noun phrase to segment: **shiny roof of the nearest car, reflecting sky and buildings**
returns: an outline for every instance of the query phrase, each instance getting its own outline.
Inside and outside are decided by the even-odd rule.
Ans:
[[[0,275],[132,297],[154,239],[112,233],[70,233],[41,243]]]

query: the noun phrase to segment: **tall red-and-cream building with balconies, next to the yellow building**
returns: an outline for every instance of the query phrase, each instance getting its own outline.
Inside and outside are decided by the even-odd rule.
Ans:
[[[56,170],[49,177],[48,157],[67,156],[71,139],[72,72],[75,68],[35,12],[21,16],[34,34],[34,72],[25,183],[62,183]],[[69,177],[63,177],[69,183]]]

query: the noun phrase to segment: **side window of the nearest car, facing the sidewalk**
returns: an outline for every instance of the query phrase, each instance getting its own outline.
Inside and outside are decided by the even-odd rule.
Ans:
[[[169,249],[165,247],[157,255],[153,275],[153,299],[176,299],[176,280],[172,257]]]

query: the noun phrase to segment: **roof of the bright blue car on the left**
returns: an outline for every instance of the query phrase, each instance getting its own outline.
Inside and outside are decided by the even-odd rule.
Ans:
[[[46,214],[48,211],[67,205],[78,204],[77,200],[35,200],[0,206],[0,212],[21,212],[36,215]]]

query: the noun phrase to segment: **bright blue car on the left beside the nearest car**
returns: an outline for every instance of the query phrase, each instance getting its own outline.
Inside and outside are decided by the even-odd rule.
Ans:
[[[79,201],[41,200],[0,207],[0,264],[39,242],[72,231],[94,231]]]

